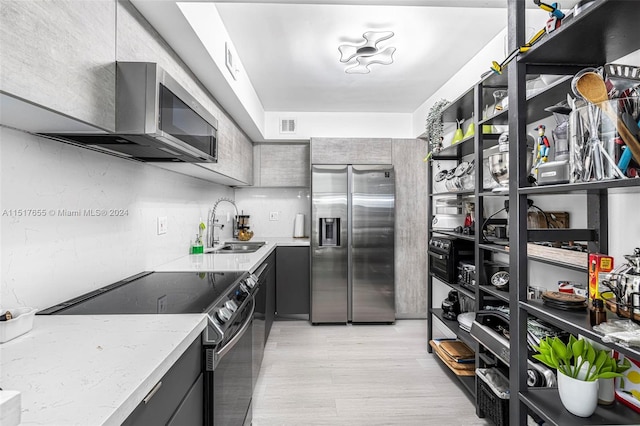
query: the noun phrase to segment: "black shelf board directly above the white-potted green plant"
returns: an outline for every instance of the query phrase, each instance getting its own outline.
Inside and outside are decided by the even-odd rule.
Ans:
[[[617,344],[603,342],[602,335],[593,331],[591,324],[589,323],[589,313],[586,309],[580,311],[563,311],[560,309],[550,308],[549,306],[544,305],[540,300],[520,302],[520,307],[531,315],[554,324],[563,330],[567,330],[574,335],[581,334],[598,343],[609,346],[633,359],[640,359],[640,348],[628,348]],[[618,317],[607,311],[607,319],[618,319]]]

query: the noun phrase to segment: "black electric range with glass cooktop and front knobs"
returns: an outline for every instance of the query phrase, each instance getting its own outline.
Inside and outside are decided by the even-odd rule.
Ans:
[[[38,315],[207,314],[205,425],[237,426],[252,418],[252,325],[259,281],[247,272],[144,272]]]

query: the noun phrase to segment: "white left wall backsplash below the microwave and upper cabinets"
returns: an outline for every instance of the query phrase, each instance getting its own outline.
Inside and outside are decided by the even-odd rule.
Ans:
[[[225,186],[6,127],[0,139],[5,307],[45,308],[186,255],[208,208],[233,197]],[[20,209],[46,216],[11,212]],[[126,214],[63,217],[63,209]],[[165,235],[158,216],[167,217]]]

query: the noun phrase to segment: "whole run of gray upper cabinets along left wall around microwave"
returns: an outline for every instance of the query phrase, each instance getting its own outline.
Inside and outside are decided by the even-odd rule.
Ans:
[[[17,98],[12,107],[50,119],[34,113],[33,125],[4,124],[64,133],[79,120],[115,131],[116,61],[155,62],[218,119],[217,164],[157,165],[224,185],[253,183],[252,141],[130,2],[2,0],[1,7],[0,100]],[[78,130],[95,131],[86,127]]]

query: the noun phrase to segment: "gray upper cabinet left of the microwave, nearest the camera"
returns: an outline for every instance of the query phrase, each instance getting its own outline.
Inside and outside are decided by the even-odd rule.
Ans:
[[[7,1],[0,90],[115,129],[116,2]]]

